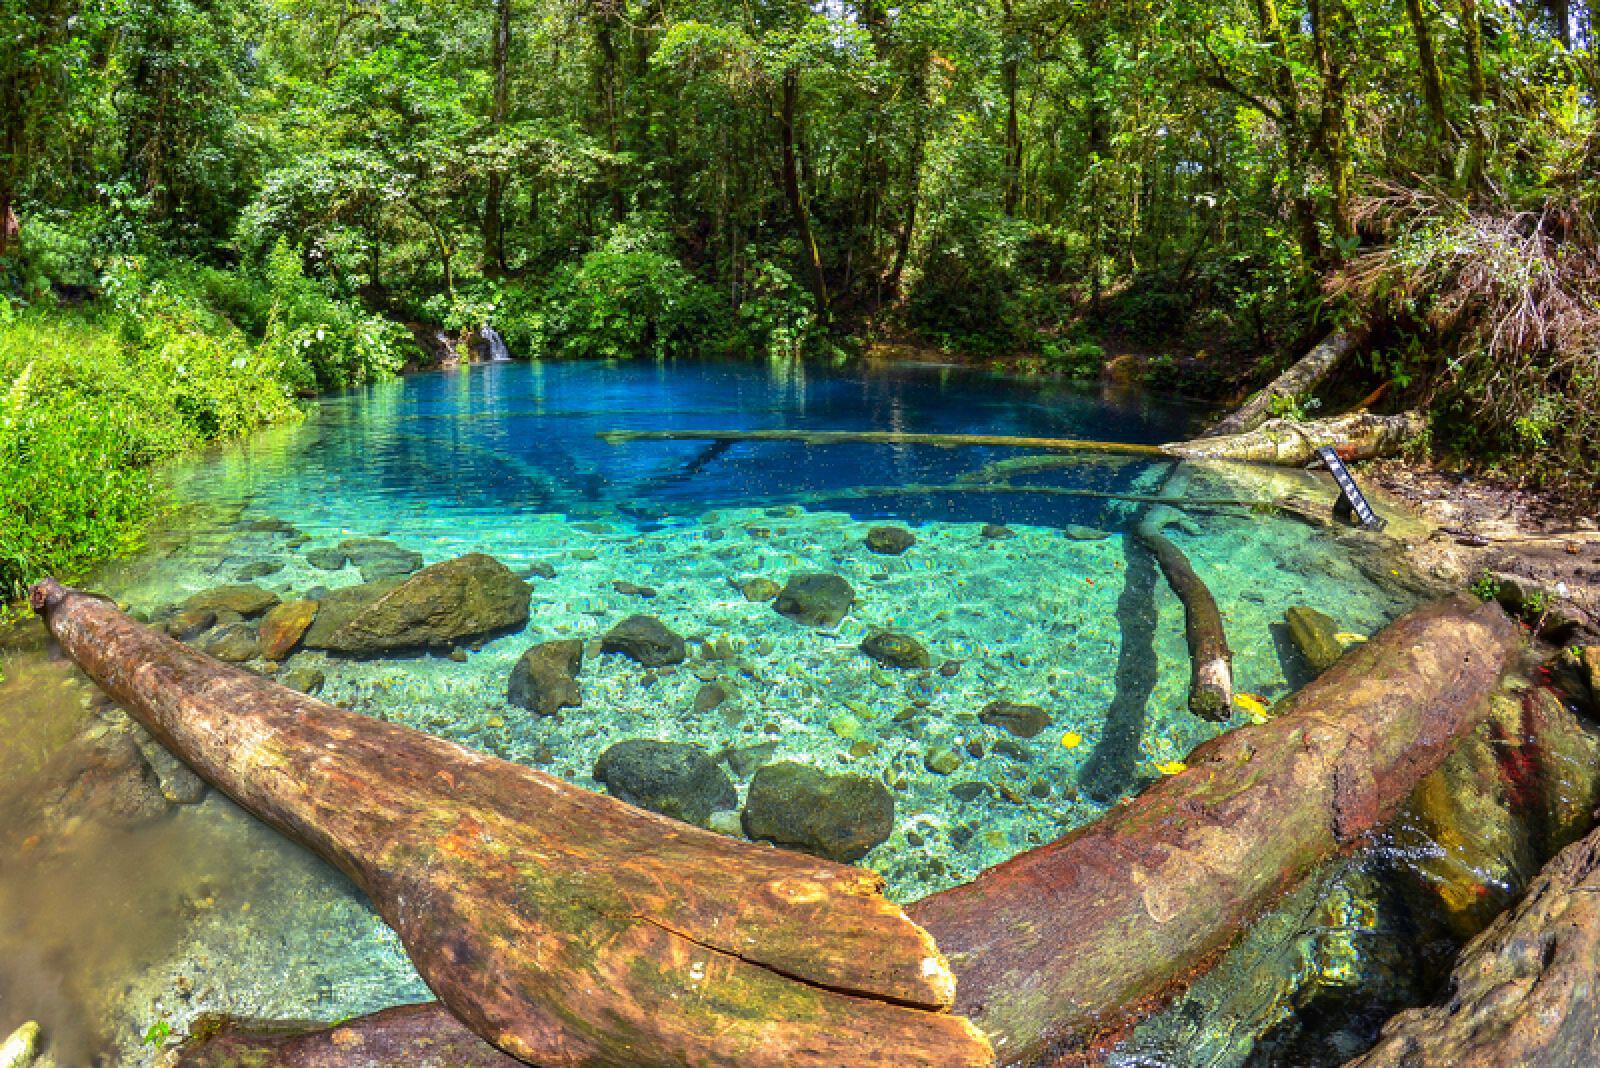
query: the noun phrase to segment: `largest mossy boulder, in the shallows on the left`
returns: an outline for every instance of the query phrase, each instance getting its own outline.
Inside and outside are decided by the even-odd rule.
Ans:
[[[330,598],[318,609],[304,644],[347,656],[448,649],[525,625],[531,598],[533,587],[506,564],[483,553],[467,553],[424,568],[368,603],[362,603],[365,596],[349,595],[346,603],[334,606]],[[323,612],[342,614],[347,608],[354,612],[346,622],[322,628]]]

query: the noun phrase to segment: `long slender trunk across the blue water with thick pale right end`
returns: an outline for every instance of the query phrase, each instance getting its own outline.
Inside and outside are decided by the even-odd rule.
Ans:
[[[982,446],[1304,467],[1315,459],[1317,448],[1323,444],[1331,444],[1347,460],[1387,456],[1419,435],[1424,425],[1422,416],[1416,412],[1400,416],[1355,412],[1312,422],[1269,419],[1261,427],[1243,433],[1166,444],[995,433],[902,433],[894,430],[602,430],[598,436],[610,444],[627,441],[795,441],[800,444],[925,444],[939,449]]]

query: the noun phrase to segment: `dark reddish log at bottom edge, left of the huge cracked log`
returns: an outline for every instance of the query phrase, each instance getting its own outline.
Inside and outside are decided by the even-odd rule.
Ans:
[[[171,1068],[518,1068],[437,1001],[334,1025],[202,1018]]]

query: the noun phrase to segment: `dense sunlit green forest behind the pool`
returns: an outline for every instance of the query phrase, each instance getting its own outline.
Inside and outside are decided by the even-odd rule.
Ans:
[[[189,398],[128,416],[142,462],[483,323],[533,358],[1134,352],[1210,395],[1357,325],[1334,389],[1594,492],[1597,26],[1597,0],[5,0],[0,448],[40,467],[38,398],[128,406],[102,365]]]

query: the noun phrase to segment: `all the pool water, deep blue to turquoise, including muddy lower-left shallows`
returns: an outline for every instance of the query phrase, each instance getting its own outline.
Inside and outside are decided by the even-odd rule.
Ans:
[[[261,585],[282,593],[349,585],[360,580],[354,569],[317,571],[306,553],[357,536],[392,539],[427,563],[464,552],[514,569],[546,563],[555,577],[533,580],[530,627],[466,662],[302,652],[293,664],[326,671],[328,700],[589,787],[598,753],[627,737],[714,751],[776,742],[774,759],[883,777],[894,787],[894,833],[862,863],[910,900],[1093,820],[1157,777],[1158,764],[1226,729],[1184,707],[1182,609],[1126,537],[1142,505],[950,489],[1016,456],[1006,449],[613,446],[597,432],[790,427],[1166,441],[1198,414],[947,368],[478,366],[325,400],[301,427],[174,470],[171,521],[98,585],[150,612],[262,561],[278,569]],[[1014,481],[1152,492],[1165,472],[1165,464],[1083,454]],[[1238,491],[1200,475],[1189,492]],[[862,539],[877,521],[909,526],[917,544],[901,556],[869,552]],[[1005,523],[1014,537],[982,537],[984,523]],[[1224,609],[1238,689],[1267,699],[1301,681],[1280,627],[1286,608],[1309,604],[1342,630],[1370,633],[1406,606],[1336,540],[1293,520],[1197,512],[1170,534]],[[803,628],[736,588],[758,576],[781,584],[795,571],[845,576],[858,593],[850,617],[832,630]],[[624,595],[614,580],[658,595]],[[597,638],[634,612],[731,656],[656,671],[592,656],[581,708],[539,719],[507,705],[510,667],[530,643]],[[877,668],[856,648],[875,628],[910,633],[936,665],[952,660],[960,670],[946,678]],[[0,691],[0,737],[22,737],[16,724],[38,718],[40,692],[54,694],[50,723],[86,715],[64,667],[37,656],[18,665],[61,678],[26,695]],[[709,679],[736,695],[698,713],[694,694]],[[1027,740],[982,726],[976,713],[995,699],[1042,705],[1051,726]],[[29,737],[35,748],[50,743],[37,729]],[[960,767],[928,771],[925,756],[938,748],[954,750]],[[0,790],[8,779],[14,774],[0,769]],[[738,785],[742,793],[747,780]],[[139,1063],[147,1054],[138,1036],[157,1018],[181,1031],[200,1010],[331,1018],[427,996],[394,937],[339,876],[226,801],[211,796],[142,835],[98,838],[53,875],[21,875],[5,859],[0,900],[30,900],[35,919],[16,921],[27,908],[11,905],[0,929],[0,1031],[13,1015],[45,1015],[46,1031],[72,1036],[72,1055],[83,1057],[62,1063],[88,1063],[88,1050],[107,1047],[106,1063]],[[141,857],[146,863],[130,863]],[[53,887],[107,868],[122,871],[117,899],[147,916],[149,937],[90,967],[78,959],[85,942],[118,935],[38,916],[50,911]],[[16,994],[27,985],[18,961],[24,948],[38,959],[51,946],[70,972],[70,996],[29,1007]]]

